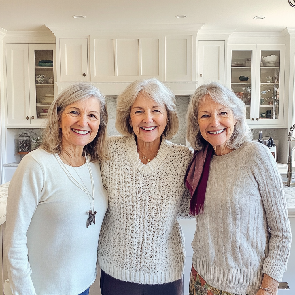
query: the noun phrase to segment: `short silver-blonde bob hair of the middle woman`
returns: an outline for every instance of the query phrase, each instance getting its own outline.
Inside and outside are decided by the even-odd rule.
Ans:
[[[176,113],[175,96],[162,82],[156,78],[136,80],[128,85],[117,98],[117,116],[115,127],[122,135],[131,135],[130,110],[138,94],[150,97],[158,105],[165,106],[169,120],[163,135],[171,139],[178,131],[179,120]]]

